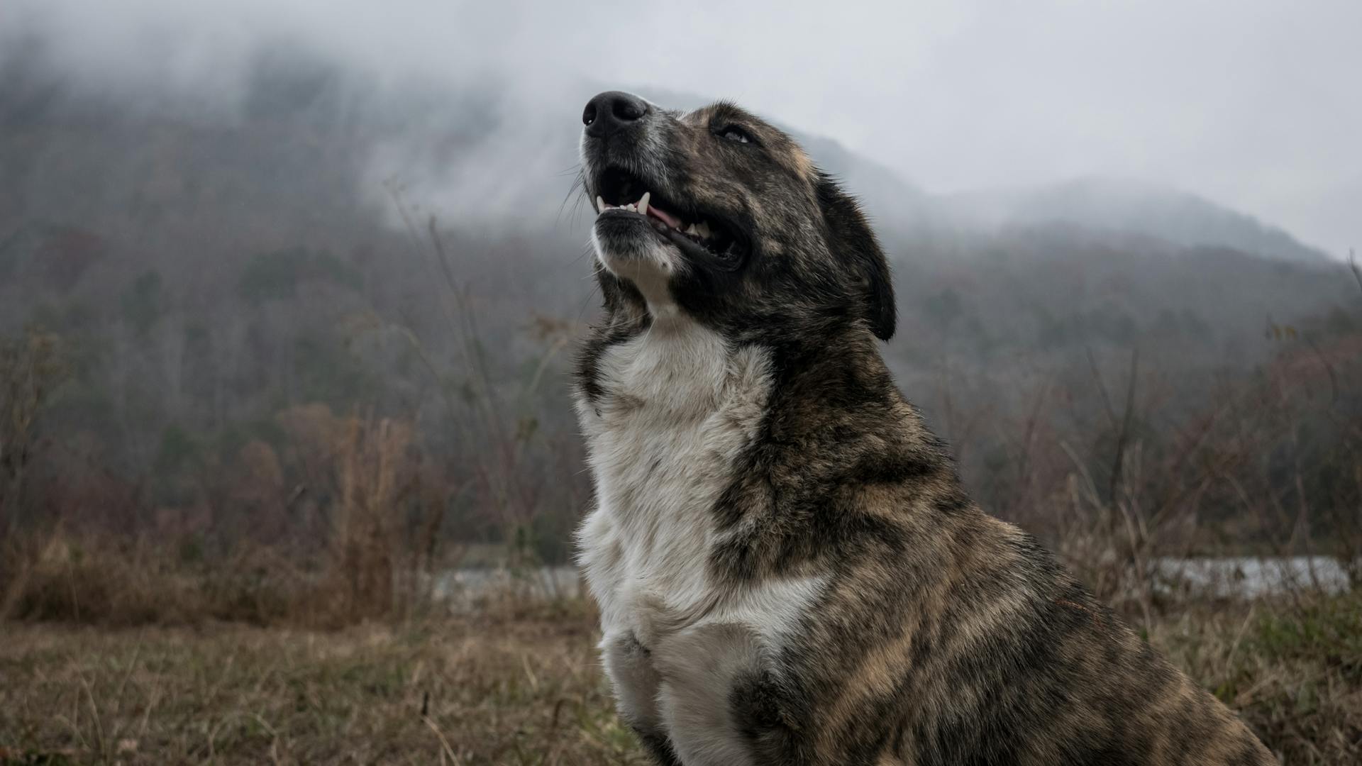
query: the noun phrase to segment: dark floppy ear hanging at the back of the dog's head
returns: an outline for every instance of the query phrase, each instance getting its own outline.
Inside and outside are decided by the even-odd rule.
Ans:
[[[832,255],[846,259],[857,285],[865,293],[865,319],[881,341],[893,337],[898,323],[893,307],[893,282],[889,262],[874,239],[869,221],[857,200],[827,173],[819,173],[819,206],[828,225]]]

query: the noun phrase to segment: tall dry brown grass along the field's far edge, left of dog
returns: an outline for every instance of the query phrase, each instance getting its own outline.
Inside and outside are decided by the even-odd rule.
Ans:
[[[419,615],[432,572],[458,559],[436,555],[448,497],[415,476],[410,425],[324,408],[291,412],[289,423],[317,432],[324,458],[312,473],[335,497],[306,545],[242,536],[208,555],[202,544],[60,523],[0,534],[0,620],[335,628]]]

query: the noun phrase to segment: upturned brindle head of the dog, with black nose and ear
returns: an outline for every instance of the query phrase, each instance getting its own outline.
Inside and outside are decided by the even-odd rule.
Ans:
[[[582,116],[606,309],[686,316],[735,341],[893,334],[884,254],[855,200],[783,131],[731,104],[602,93]]]

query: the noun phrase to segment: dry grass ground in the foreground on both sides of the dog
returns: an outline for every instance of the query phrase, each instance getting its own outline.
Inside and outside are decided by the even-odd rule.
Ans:
[[[342,630],[0,624],[4,763],[646,763],[590,605]],[[1284,763],[1362,759],[1362,601],[1200,605],[1148,631]]]

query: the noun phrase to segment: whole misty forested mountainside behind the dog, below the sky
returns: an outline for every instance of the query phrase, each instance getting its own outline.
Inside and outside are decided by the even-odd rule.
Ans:
[[[350,502],[347,455],[381,453],[394,534],[563,560],[588,502],[567,369],[597,308],[576,114],[290,50],[252,72],[218,104],[0,57],[0,519],[305,547]],[[1321,519],[1355,503],[1362,405],[1344,264],[1158,189],[934,198],[809,146],[866,196],[887,354],[990,510],[1062,536],[1151,492],[1204,522],[1189,540],[1263,544],[1294,511],[1250,523],[1207,477],[1293,506],[1309,454],[1333,472],[1312,523],[1339,538]]]

